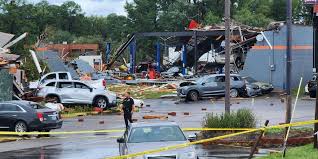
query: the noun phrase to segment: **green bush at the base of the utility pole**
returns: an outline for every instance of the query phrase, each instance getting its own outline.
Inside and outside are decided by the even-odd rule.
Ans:
[[[204,118],[206,128],[255,128],[256,117],[250,109],[239,109],[236,112],[220,115],[209,113]]]

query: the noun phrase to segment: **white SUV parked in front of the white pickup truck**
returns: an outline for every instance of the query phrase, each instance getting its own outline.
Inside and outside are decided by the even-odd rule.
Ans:
[[[116,106],[116,94],[93,88],[78,80],[55,80],[43,84],[37,96],[63,104],[92,104],[100,108]]]

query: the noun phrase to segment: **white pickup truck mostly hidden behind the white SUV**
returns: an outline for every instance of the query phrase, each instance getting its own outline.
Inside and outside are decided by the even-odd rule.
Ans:
[[[29,88],[30,89],[37,89],[42,84],[50,81],[50,80],[74,80],[72,79],[72,76],[69,72],[50,72],[41,77],[40,80],[36,82],[30,82]],[[105,88],[106,87],[106,81],[104,79],[99,80],[87,80],[82,81],[87,85],[90,85],[93,88]]]

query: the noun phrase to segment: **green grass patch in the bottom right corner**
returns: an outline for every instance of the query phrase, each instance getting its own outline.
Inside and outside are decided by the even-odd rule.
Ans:
[[[259,159],[281,159],[282,154],[276,153],[271,154],[267,157],[262,157]],[[294,147],[287,149],[285,159],[317,159],[318,158],[318,149],[313,148],[313,144]]]

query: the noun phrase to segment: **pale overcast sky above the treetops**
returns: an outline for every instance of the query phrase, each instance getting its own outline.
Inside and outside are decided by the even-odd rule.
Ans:
[[[30,3],[37,3],[41,0],[26,0]],[[51,4],[60,5],[68,0],[47,0]],[[126,0],[73,0],[81,5],[86,15],[108,15],[116,13],[119,15],[126,15],[124,5]],[[132,0],[127,0],[131,2]]]

